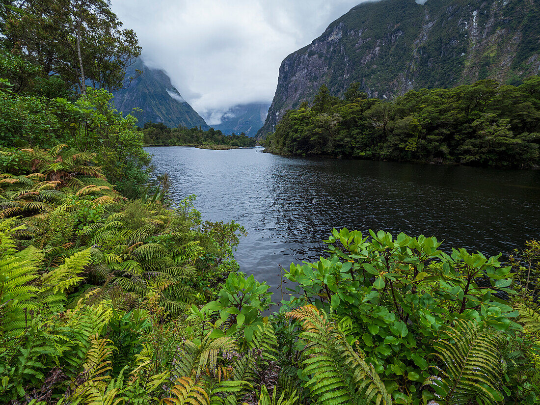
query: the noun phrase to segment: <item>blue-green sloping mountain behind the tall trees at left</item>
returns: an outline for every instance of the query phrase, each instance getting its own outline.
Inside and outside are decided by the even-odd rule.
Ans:
[[[143,73],[137,76],[137,70]],[[131,83],[129,78],[134,77]],[[128,85],[129,84],[129,85]],[[113,103],[118,111],[132,113],[143,126],[151,121],[169,127],[183,125],[188,128],[209,127],[171,84],[165,71],[146,66],[142,59],[126,69],[124,89],[113,92]],[[143,110],[133,111],[134,108]]]

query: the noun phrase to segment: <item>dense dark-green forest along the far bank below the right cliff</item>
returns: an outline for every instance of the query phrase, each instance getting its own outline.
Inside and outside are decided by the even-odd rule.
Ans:
[[[289,110],[268,152],[361,159],[533,167],[540,162],[540,77],[519,86],[481,80],[409,91],[392,102],[352,84],[340,100],[322,86],[312,106]]]

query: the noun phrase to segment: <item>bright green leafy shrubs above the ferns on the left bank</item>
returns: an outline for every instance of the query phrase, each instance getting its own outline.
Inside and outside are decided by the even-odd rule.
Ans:
[[[0,62],[2,57],[0,53]],[[65,143],[86,155],[92,151],[118,191],[131,198],[141,195],[152,171],[150,156],[143,150],[143,134],[136,130],[136,119],[114,110],[110,93],[89,87],[84,97],[71,102],[21,95],[10,87],[0,87],[0,147],[52,149]],[[3,152],[16,153],[12,149]]]

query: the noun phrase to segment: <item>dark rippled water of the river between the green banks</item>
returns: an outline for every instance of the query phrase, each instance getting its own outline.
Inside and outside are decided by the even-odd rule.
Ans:
[[[540,170],[284,158],[261,149],[149,147],[173,196],[248,231],[241,270],[279,285],[279,265],[324,254],[333,227],[434,235],[443,249],[509,253],[540,230]]]

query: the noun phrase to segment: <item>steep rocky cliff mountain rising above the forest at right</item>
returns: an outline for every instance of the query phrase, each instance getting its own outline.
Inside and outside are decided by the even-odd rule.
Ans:
[[[281,63],[259,136],[325,84],[370,97],[453,87],[479,79],[518,84],[540,73],[540,0],[382,0],[355,6]]]

